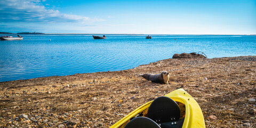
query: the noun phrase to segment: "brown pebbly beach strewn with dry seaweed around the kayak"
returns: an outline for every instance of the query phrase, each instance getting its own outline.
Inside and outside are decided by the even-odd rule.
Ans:
[[[163,70],[170,73],[167,84],[139,77]],[[180,86],[198,102],[206,127],[256,127],[255,85],[256,56],[166,59],[123,71],[2,82],[0,127],[109,127]]]

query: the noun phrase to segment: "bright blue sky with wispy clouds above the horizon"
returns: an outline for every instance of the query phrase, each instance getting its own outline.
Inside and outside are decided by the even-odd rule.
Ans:
[[[1,0],[0,31],[256,34],[256,0]]]

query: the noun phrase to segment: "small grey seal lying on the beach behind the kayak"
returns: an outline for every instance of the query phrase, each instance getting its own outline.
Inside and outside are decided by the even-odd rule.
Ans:
[[[139,76],[142,76],[148,81],[151,81],[154,83],[167,84],[169,81],[169,73],[167,71],[162,71],[161,74],[142,74]]]

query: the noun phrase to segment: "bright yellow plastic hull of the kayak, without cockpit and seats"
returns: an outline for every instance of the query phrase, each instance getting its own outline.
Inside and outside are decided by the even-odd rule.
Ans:
[[[165,97],[169,97],[175,102],[180,102],[185,105],[185,119],[182,125],[182,128],[185,127],[205,127],[204,116],[201,108],[198,103],[195,101],[191,95],[189,95],[185,90],[178,89],[174,90],[169,94],[164,95]],[[145,105],[140,106],[139,108],[132,111],[130,114],[126,115],[124,118],[120,119],[114,125],[110,126],[110,128],[121,128],[125,127],[125,125],[130,122],[130,119],[135,117],[137,114],[144,113],[149,108],[150,104],[153,101],[147,102]]]

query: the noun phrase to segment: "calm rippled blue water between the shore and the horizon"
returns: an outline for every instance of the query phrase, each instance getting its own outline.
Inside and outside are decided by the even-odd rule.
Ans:
[[[8,34],[2,34],[8,35]],[[13,35],[16,36],[16,35]],[[116,71],[204,52],[208,58],[256,55],[256,36],[237,35],[22,35],[0,41],[0,82],[45,76]],[[102,36],[102,35],[101,35]],[[49,41],[51,39],[51,41]]]

